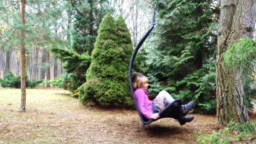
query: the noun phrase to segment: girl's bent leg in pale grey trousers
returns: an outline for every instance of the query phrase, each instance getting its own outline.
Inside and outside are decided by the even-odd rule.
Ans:
[[[173,97],[167,91],[160,91],[160,93],[158,93],[158,95],[155,97],[154,103],[158,112],[160,112],[173,101]]]

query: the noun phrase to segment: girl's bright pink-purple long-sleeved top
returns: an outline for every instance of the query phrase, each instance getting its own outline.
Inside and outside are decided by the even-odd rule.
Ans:
[[[139,106],[141,114],[147,119],[150,119],[153,114],[153,108],[152,108],[153,101],[149,100],[147,96],[148,92],[144,89],[138,88],[134,92],[134,95],[137,100],[137,104]]]

